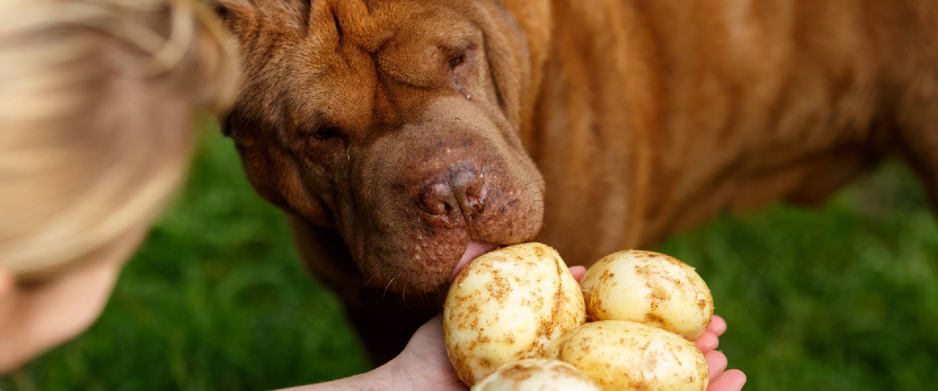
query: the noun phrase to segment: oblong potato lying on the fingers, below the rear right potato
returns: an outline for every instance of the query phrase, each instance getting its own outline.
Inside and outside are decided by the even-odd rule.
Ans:
[[[586,323],[548,354],[579,368],[604,390],[703,391],[709,383],[706,360],[693,342],[642,323]]]

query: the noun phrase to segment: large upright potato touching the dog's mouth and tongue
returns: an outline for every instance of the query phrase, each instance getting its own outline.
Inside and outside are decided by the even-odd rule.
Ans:
[[[500,248],[463,267],[450,286],[446,352],[471,386],[504,364],[543,356],[585,318],[580,286],[557,251],[539,243]]]

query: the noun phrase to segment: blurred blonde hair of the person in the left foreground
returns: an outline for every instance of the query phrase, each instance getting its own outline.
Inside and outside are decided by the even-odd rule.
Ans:
[[[152,221],[236,58],[187,0],[0,1],[0,268],[42,278]]]

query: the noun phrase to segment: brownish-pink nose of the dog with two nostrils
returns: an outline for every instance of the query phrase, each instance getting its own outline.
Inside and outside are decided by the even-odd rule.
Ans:
[[[431,222],[461,226],[485,210],[485,176],[472,164],[458,163],[425,182],[419,203]]]

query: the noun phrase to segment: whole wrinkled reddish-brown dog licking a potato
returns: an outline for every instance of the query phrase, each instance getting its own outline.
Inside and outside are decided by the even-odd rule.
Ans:
[[[226,131],[379,362],[481,243],[589,264],[893,152],[938,200],[931,0],[214,3]]]

